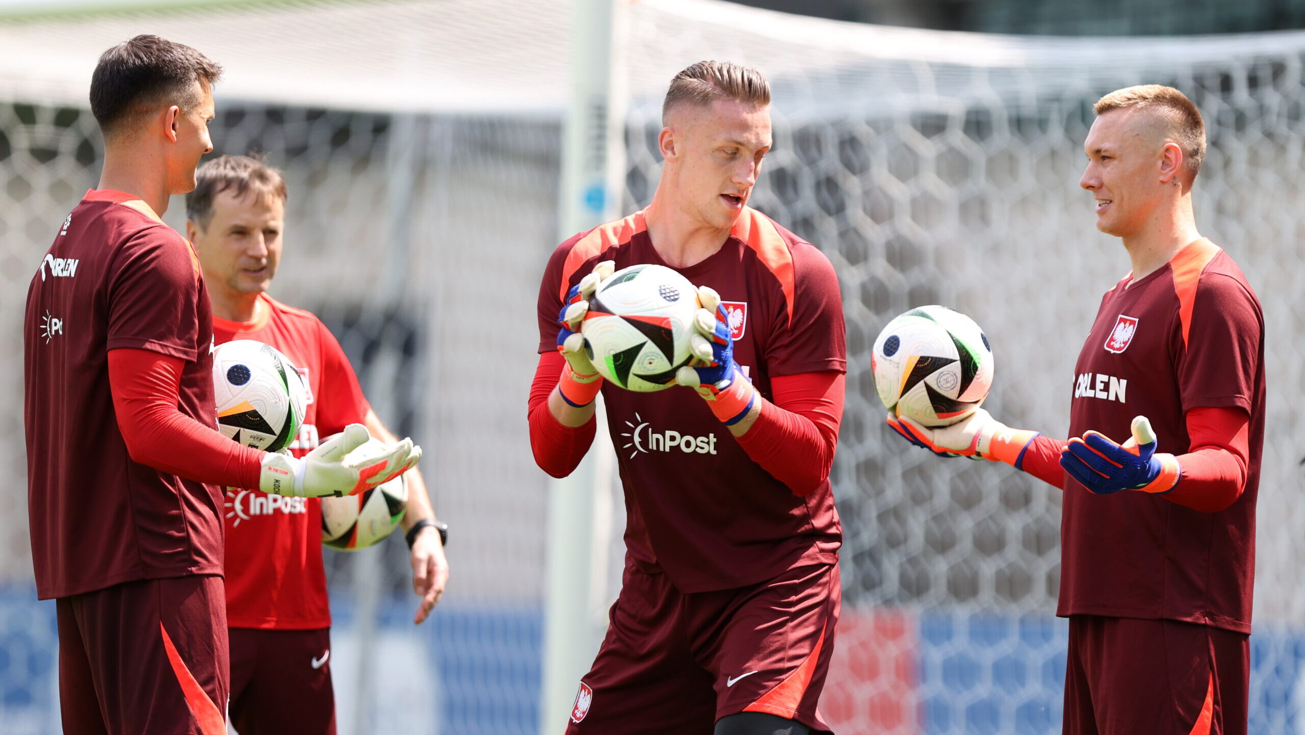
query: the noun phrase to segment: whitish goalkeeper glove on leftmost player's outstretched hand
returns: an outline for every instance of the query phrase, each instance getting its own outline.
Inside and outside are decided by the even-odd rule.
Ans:
[[[269,452],[262,457],[258,490],[296,497],[358,495],[402,475],[422,458],[422,448],[405,439],[375,457],[351,460],[348,453],[371,437],[365,426],[348,424],[303,457]]]

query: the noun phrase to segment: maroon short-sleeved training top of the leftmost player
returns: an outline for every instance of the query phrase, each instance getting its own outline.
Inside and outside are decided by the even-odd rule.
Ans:
[[[37,593],[222,573],[219,488],[138,465],[108,350],[185,362],[179,410],[217,428],[209,294],[191,244],[144,201],[90,191],[31,278],[23,322],[27,518]]]

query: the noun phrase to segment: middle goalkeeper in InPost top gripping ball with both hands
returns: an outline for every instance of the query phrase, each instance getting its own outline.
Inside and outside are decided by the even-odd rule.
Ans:
[[[652,202],[562,243],[539,291],[536,462],[553,477],[576,469],[600,390],[612,439],[630,445],[619,456],[621,593],[568,732],[827,732],[816,706],[840,599],[838,279],[820,251],[746,206],[771,146],[760,73],[689,67],[663,125]],[[604,385],[581,349],[600,278],[636,264],[699,286],[699,367],[677,375],[694,390]]]

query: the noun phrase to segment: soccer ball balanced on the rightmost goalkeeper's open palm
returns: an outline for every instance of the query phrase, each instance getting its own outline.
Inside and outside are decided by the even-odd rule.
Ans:
[[[968,316],[946,307],[911,309],[883,328],[870,352],[880,401],[921,426],[964,419],[988,397],[992,347]]]

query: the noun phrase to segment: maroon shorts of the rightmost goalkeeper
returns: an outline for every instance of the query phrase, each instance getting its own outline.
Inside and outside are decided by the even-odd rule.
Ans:
[[[1245,735],[1250,636],[1073,615],[1065,735]]]

